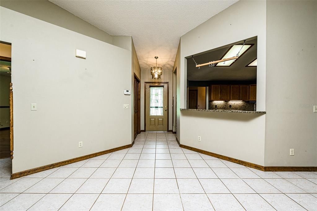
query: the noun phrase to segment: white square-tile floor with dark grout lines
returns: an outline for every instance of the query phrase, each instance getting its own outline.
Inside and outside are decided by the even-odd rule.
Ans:
[[[263,172],[143,132],[130,149],[15,180],[0,160],[0,210],[317,210],[317,172]]]

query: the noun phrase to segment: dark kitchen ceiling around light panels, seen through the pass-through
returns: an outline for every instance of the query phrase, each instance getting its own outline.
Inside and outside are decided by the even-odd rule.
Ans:
[[[241,42],[243,43],[243,42]],[[198,69],[191,58],[187,59],[187,80],[212,80],[212,81],[250,81],[256,80],[256,67],[245,67],[257,57],[257,39],[247,41],[246,43],[254,44],[244,54],[239,56],[230,67],[209,67],[208,65]],[[230,45],[231,46],[231,45]],[[194,56],[198,64],[216,61],[230,48],[220,48],[208,53]]]

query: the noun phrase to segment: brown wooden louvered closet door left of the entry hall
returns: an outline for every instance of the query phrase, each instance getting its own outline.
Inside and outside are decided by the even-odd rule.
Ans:
[[[134,138],[140,133],[140,81],[134,77],[134,96],[133,96],[133,109],[134,109]]]

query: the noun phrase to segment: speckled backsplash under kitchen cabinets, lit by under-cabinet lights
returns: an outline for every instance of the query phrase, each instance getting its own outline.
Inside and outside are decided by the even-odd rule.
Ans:
[[[241,110],[254,111],[255,102],[247,101],[209,101],[209,109]],[[217,108],[216,108],[217,105]],[[231,108],[230,108],[231,105]]]

